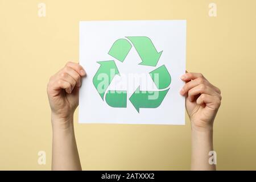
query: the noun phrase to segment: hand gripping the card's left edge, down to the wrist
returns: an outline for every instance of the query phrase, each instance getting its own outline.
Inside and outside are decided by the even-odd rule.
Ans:
[[[79,105],[81,77],[85,75],[81,65],[68,62],[63,69],[51,76],[47,85],[47,94],[54,119],[68,121],[73,118]]]

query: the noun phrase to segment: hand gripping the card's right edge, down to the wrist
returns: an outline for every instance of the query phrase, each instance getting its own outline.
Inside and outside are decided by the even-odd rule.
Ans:
[[[186,84],[180,90],[185,96],[187,113],[192,130],[212,130],[213,121],[221,105],[221,91],[201,73],[185,73],[181,80]]]

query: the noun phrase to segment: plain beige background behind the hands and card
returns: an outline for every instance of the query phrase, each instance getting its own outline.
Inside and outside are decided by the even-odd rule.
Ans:
[[[38,3],[46,3],[39,18]],[[217,17],[208,15],[210,2]],[[80,20],[187,19],[187,70],[222,90],[217,168],[256,169],[256,1],[0,0],[0,169],[51,169],[46,85],[79,60]],[[88,114],[89,111],[88,111]],[[185,126],[77,124],[83,169],[189,169]],[[46,151],[46,165],[38,151]]]

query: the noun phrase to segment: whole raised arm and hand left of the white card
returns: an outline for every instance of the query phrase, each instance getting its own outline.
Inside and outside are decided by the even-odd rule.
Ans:
[[[47,94],[52,120],[52,170],[81,170],[73,126],[73,114],[79,105],[79,86],[84,69],[68,62],[49,79]]]

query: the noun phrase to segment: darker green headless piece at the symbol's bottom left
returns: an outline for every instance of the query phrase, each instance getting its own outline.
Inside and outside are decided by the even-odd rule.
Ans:
[[[125,90],[109,90],[106,93],[106,102],[112,107],[126,107],[127,93]]]

